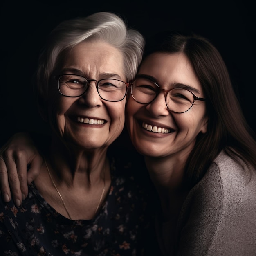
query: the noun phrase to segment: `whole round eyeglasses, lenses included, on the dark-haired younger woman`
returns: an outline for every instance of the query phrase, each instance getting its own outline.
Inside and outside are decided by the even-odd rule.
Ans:
[[[184,88],[173,88],[170,90],[161,89],[157,83],[143,75],[135,78],[131,85],[133,99],[141,104],[151,103],[160,92],[165,93],[166,106],[175,113],[188,111],[196,100],[206,100],[195,96],[191,91]]]

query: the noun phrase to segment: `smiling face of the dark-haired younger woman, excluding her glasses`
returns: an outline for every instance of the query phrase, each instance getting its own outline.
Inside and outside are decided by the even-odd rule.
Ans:
[[[162,89],[189,86],[197,97],[204,97],[183,53],[151,54],[142,63],[138,74],[152,77]],[[126,122],[132,143],[141,154],[150,157],[186,159],[197,135],[207,131],[207,120],[204,101],[195,101],[187,112],[174,113],[166,106],[164,92],[149,104],[137,103],[131,96],[126,104]]]

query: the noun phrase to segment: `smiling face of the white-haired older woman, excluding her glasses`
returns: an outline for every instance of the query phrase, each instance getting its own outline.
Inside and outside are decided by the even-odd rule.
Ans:
[[[58,75],[76,74],[87,79],[119,79],[126,81],[122,53],[103,42],[82,42],[59,59]],[[80,97],[65,97],[58,83],[50,85],[49,116],[51,126],[64,141],[83,149],[109,146],[124,127],[126,98],[118,102],[101,99],[96,82]]]

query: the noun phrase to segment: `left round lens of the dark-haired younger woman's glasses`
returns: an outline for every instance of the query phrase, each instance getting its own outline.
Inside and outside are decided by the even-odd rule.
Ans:
[[[131,93],[133,99],[139,103],[149,103],[155,99],[158,86],[145,78],[137,78],[133,81]]]

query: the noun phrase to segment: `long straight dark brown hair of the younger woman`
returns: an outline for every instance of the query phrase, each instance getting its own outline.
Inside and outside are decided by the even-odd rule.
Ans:
[[[221,150],[235,160],[234,156],[238,156],[249,169],[256,168],[255,134],[243,116],[227,67],[216,47],[195,34],[169,32],[146,44],[145,55],[153,52],[183,52],[207,99],[207,133],[198,135],[189,155],[185,182],[190,187],[196,184]]]

